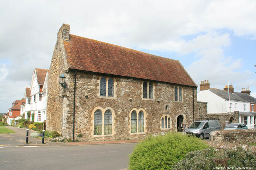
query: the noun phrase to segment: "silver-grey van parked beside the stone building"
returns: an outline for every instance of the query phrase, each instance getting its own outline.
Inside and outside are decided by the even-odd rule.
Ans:
[[[214,130],[221,130],[218,120],[198,120],[191,123],[185,133],[204,139],[209,137],[210,132]]]

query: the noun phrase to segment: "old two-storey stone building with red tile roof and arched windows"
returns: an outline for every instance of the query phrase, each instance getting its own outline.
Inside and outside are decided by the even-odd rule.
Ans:
[[[69,29],[59,29],[49,68],[47,130],[73,140],[79,134],[79,141],[136,139],[179,130],[199,108],[207,111],[178,60],[71,35]]]

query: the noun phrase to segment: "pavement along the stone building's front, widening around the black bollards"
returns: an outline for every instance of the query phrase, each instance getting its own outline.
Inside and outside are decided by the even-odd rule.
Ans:
[[[51,142],[45,140],[42,144],[41,138],[31,137],[34,130],[29,130],[29,143],[26,143],[26,128],[18,128],[14,126],[5,126],[8,129],[15,131],[12,134],[0,134],[0,146],[79,146],[79,145],[103,145],[103,144],[117,144],[117,143],[137,143],[141,139],[135,140],[118,140],[118,141],[89,141],[89,142]]]

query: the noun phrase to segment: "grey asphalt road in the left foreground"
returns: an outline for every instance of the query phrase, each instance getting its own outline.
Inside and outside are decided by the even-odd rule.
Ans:
[[[0,146],[2,170],[120,170],[136,143],[85,146]]]

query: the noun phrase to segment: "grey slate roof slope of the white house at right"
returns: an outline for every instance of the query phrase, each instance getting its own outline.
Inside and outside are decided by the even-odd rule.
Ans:
[[[254,97],[245,93],[240,93],[240,92],[229,93],[228,91],[219,90],[217,88],[210,88],[209,90],[225,100],[228,100],[230,97],[230,100],[235,100],[235,101],[251,102],[251,103],[256,102],[256,99]]]

